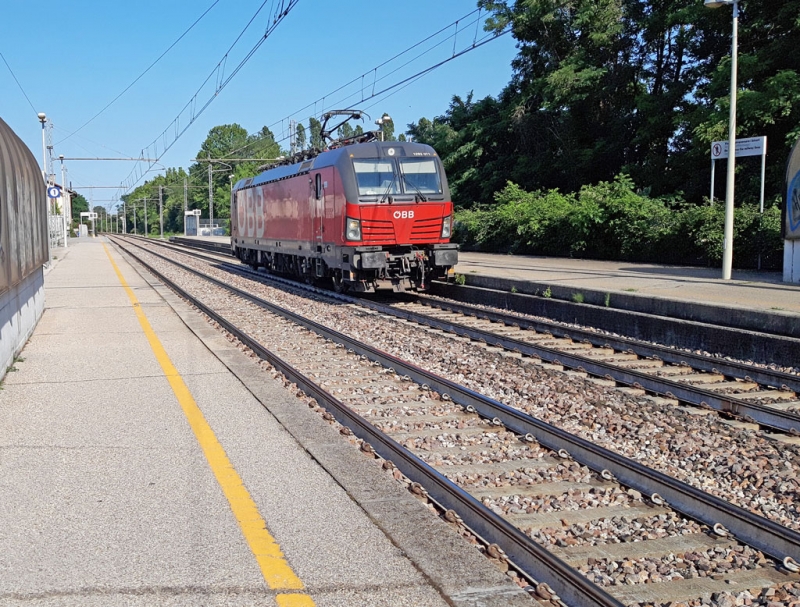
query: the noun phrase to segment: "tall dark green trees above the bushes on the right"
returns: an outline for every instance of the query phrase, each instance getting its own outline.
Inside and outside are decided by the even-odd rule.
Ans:
[[[701,203],[710,143],[727,138],[729,8],[700,0],[479,6],[487,30],[512,28],[511,82],[497,98],[456,95],[443,115],[408,125],[441,156],[459,208],[491,204],[508,181],[572,193],[622,173],[654,197],[682,192]],[[800,0],[747,0],[740,11],[738,133],[768,137],[771,197],[800,135]],[[743,159],[737,176],[747,198],[758,195],[757,162]]]

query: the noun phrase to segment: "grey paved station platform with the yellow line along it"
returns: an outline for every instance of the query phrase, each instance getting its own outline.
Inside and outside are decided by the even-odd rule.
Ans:
[[[535,604],[104,238],[45,297],[0,390],[0,604]]]

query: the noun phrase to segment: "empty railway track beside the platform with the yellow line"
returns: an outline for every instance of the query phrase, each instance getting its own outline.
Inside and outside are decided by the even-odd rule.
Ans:
[[[175,273],[195,289],[197,277],[211,279],[185,272],[161,278]],[[222,288],[231,295],[196,305],[215,314],[219,298],[235,298],[238,311],[217,322],[240,326],[243,343],[419,483],[412,490],[484,538],[501,565],[536,580],[541,600],[555,592],[570,605],[660,605],[755,588],[775,596],[797,579],[762,554],[789,556],[793,569],[797,532],[249,293],[220,283],[198,290],[208,298]]]

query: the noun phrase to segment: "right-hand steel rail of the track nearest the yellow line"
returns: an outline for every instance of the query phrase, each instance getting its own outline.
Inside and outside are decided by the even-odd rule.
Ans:
[[[166,261],[175,263],[166,257],[156,253],[150,253]],[[793,529],[726,502],[721,498],[692,487],[688,483],[674,479],[662,472],[653,470],[635,460],[631,460],[609,449],[595,445],[561,428],[460,386],[449,379],[435,375],[411,363],[407,363],[391,354],[359,343],[338,331],[302,318],[280,306],[276,306],[259,297],[243,292],[236,287],[226,285],[222,281],[211,276],[206,276],[191,268],[184,269],[240,297],[252,301],[256,305],[274,314],[296,322],[326,339],[345,345],[356,354],[379,362],[384,367],[393,368],[395,371],[400,369],[404,375],[408,375],[417,383],[427,384],[430,388],[447,394],[454,402],[467,408],[471,407],[482,417],[491,420],[499,420],[506,428],[514,432],[525,436],[530,434],[540,444],[549,449],[554,451],[564,449],[580,464],[601,473],[603,471],[610,472],[623,485],[632,487],[645,495],[650,495],[654,502],[669,503],[670,507],[690,518],[705,523],[709,527],[716,527],[717,524],[721,524],[738,540],[780,561],[783,561],[787,557],[794,561],[800,559],[800,533]],[[498,543],[503,550],[506,550],[506,547],[500,544],[500,542],[496,543]],[[509,546],[509,550],[506,550],[506,553],[512,560],[517,562],[514,547]]]

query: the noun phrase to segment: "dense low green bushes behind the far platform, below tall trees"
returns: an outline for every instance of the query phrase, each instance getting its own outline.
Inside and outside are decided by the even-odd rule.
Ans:
[[[514,183],[495,203],[456,213],[454,239],[465,250],[719,265],[724,204],[697,206],[650,198],[626,175],[577,193],[526,192]],[[734,220],[736,267],[780,268],[780,207],[745,204]]]

